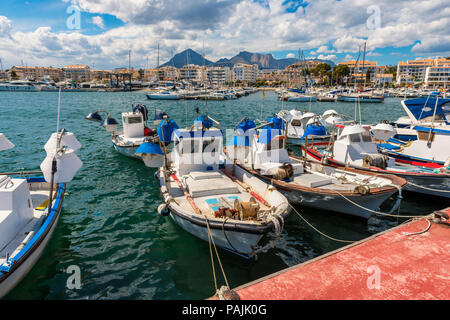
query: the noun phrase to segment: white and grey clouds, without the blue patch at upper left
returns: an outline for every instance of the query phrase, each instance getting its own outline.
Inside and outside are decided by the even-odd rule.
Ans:
[[[334,59],[335,53],[353,53],[354,60],[364,42],[366,52],[416,44],[413,53],[450,55],[450,0],[316,0],[296,12],[286,11],[292,3],[285,0],[185,0],[183,5],[175,0],[65,1],[94,15],[114,15],[125,25],[94,35],[53,32],[45,26],[14,33],[14,22],[0,16],[0,56],[13,61],[23,58],[28,64],[79,61],[111,67],[126,64],[131,49],[132,64],[145,66],[147,57],[156,62],[157,42],[162,62],[171,52],[189,47],[201,52],[203,42],[209,60],[241,50],[297,49],[313,50],[310,55],[328,59]],[[381,12],[375,30],[366,26],[367,8],[373,4]],[[92,22],[101,25],[98,18]]]

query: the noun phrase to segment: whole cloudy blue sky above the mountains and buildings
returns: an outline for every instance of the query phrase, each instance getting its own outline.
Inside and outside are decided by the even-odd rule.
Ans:
[[[1,0],[0,59],[14,65],[153,68],[192,48],[378,65],[450,56],[450,0]]]

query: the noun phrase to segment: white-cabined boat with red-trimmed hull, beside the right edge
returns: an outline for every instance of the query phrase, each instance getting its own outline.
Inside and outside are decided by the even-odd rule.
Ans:
[[[403,178],[408,182],[405,187],[407,191],[450,197],[448,167],[436,167],[424,163],[416,163],[416,165],[415,163],[396,163],[394,158],[379,154],[369,131],[378,141],[386,141],[395,134],[395,129],[389,124],[381,123],[372,128],[356,124],[345,126],[337,140],[330,144],[327,150],[311,145],[302,149],[307,153],[308,158],[321,163]]]

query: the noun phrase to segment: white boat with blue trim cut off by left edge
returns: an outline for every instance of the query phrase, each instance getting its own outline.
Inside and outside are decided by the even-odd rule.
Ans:
[[[72,133],[58,131],[45,144],[42,172],[0,173],[0,298],[41,256],[58,222],[66,183],[82,166],[75,154],[81,144]],[[12,147],[0,133],[0,151]]]

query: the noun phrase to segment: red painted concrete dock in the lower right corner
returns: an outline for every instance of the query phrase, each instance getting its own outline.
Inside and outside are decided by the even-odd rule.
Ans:
[[[441,212],[450,215],[450,208]],[[241,300],[450,299],[450,223],[420,219],[245,284]],[[427,229],[428,231],[420,233]],[[417,233],[406,235],[405,233]]]

